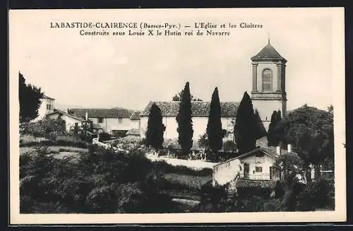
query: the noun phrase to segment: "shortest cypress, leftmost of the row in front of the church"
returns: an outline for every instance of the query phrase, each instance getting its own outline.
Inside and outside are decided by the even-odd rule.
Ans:
[[[162,148],[164,131],[165,126],[162,123],[162,112],[160,107],[153,103],[150,108],[150,114],[148,115],[146,144],[156,150]]]

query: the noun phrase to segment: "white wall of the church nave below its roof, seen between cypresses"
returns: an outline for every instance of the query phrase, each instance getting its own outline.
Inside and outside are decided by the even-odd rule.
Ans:
[[[233,131],[231,117],[222,117],[222,128],[227,131]],[[205,134],[207,129],[208,117],[192,117],[193,120],[193,140],[198,140],[200,136]],[[177,128],[177,118],[176,117],[163,117],[162,122],[166,129],[164,131],[164,138],[177,138],[179,136]],[[145,132],[147,131],[148,117],[140,117],[140,136],[145,137]]]

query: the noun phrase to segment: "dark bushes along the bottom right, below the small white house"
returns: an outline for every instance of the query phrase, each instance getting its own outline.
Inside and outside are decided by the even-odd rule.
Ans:
[[[282,182],[282,184],[286,184]],[[267,197],[261,194],[227,194],[227,186],[204,185],[201,188],[201,203],[193,208],[197,213],[232,213],[232,212],[275,212],[275,211],[316,211],[335,209],[335,188],[333,182],[321,179],[311,182],[298,191],[292,201],[293,208],[289,207],[285,194]],[[282,189],[283,190],[283,189]]]

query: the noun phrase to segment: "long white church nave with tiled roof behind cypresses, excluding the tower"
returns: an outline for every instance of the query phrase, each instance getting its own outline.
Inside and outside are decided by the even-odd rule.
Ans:
[[[162,122],[166,129],[164,131],[164,138],[177,138],[177,114],[179,111],[179,101],[172,102],[149,102],[148,105],[140,113],[140,136],[145,137],[148,124],[148,114],[150,114],[150,107],[155,103],[160,107],[162,112]],[[234,117],[237,114],[238,102],[221,102],[221,122],[222,128],[232,133]],[[200,136],[205,134],[208,114],[210,112],[210,102],[192,101],[191,111],[193,119],[193,137],[198,140]]]

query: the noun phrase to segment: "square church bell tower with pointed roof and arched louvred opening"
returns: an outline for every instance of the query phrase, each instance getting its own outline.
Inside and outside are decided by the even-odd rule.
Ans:
[[[285,67],[287,60],[268,44],[258,54],[251,57],[253,67],[253,89],[251,100],[258,109],[266,130],[270,125],[273,111],[281,111],[282,118],[287,112],[285,91]]]

